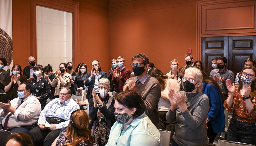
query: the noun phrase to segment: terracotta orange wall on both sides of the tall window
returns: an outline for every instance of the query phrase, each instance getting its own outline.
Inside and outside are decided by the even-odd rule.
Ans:
[[[98,59],[103,70],[108,70],[108,5],[104,3],[88,4],[79,2],[79,47],[77,62],[91,67],[91,61]],[[22,68],[28,65],[31,56],[32,0],[13,0],[13,63]],[[57,55],[57,54],[56,54]],[[36,58],[36,57],[35,57]],[[74,64],[77,66],[77,64]]]

